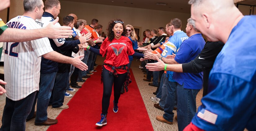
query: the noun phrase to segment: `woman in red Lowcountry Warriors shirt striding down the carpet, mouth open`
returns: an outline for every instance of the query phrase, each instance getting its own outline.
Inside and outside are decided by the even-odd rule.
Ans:
[[[106,55],[104,65],[102,66],[101,81],[103,82],[103,97],[102,97],[102,113],[101,120],[96,123],[98,126],[107,124],[107,113],[110,103],[112,86],[114,84],[114,108],[113,111],[118,111],[118,100],[120,98],[121,88],[124,86],[128,91],[128,84],[131,83],[131,76],[127,64],[129,63],[128,55],[135,57],[143,57],[142,54],[135,53],[132,48],[132,41],[125,37],[127,32],[124,30],[124,22],[120,19],[111,20],[107,28],[108,37],[101,44],[100,50],[90,48],[90,51],[102,55]]]

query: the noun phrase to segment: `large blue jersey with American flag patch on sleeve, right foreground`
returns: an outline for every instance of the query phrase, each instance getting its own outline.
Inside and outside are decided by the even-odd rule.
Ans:
[[[209,94],[192,123],[207,131],[256,130],[256,16],[232,29],[209,75]]]

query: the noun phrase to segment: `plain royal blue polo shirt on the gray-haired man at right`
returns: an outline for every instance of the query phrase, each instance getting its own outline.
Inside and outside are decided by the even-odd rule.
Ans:
[[[194,34],[182,42],[174,60],[177,63],[188,63],[203,50],[205,45],[202,34]],[[200,90],[203,87],[203,72],[200,73],[173,73],[173,79],[180,85],[184,84],[186,89]]]

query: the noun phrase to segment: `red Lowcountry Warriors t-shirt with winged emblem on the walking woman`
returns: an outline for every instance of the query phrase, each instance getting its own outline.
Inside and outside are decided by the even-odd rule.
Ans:
[[[119,40],[113,39],[111,42],[108,37],[103,41],[100,49],[100,54],[106,59],[104,63],[119,67],[129,63],[128,55],[133,55],[132,41],[128,37],[121,36]],[[104,65],[107,70],[111,67]],[[116,69],[117,74],[123,74],[126,70]]]

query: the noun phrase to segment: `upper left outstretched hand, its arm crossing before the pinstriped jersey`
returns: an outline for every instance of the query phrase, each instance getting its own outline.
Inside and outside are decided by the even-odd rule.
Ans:
[[[42,35],[51,39],[57,38],[68,38],[69,35],[72,35],[73,30],[68,26],[56,26],[55,24],[59,21],[59,17],[57,17],[54,21],[48,24],[45,28],[43,28]]]

